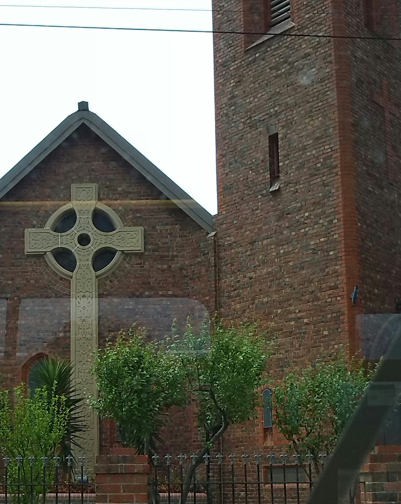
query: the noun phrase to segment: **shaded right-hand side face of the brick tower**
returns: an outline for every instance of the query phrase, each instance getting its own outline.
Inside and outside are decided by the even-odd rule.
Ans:
[[[350,2],[347,33],[397,37],[401,13],[398,18],[392,17],[394,6],[396,2],[386,1],[376,5],[375,17],[387,18],[387,23],[385,26],[376,23],[375,31],[370,31],[362,23],[363,6]],[[367,313],[394,312],[395,298],[401,292],[398,281],[401,209],[397,197],[401,182],[398,141],[401,67],[394,65],[400,58],[400,45],[385,40],[351,40],[349,54],[361,258],[360,302]],[[376,102],[376,95],[383,92],[383,80],[388,83],[394,111],[399,110],[398,117],[388,114],[388,123],[384,108]]]

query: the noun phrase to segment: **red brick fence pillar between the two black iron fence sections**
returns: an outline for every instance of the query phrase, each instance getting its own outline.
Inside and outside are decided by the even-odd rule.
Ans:
[[[147,503],[149,471],[145,455],[98,455],[96,504]]]

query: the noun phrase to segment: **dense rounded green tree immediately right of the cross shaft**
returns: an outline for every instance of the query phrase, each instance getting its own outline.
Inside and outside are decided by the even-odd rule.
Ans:
[[[186,391],[176,356],[146,343],[145,337],[144,330],[132,327],[98,350],[93,372],[99,397],[91,405],[103,418],[118,422],[127,443],[152,456],[161,442],[165,409],[183,405]]]

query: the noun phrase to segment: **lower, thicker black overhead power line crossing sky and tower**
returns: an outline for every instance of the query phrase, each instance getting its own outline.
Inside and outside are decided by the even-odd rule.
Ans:
[[[266,32],[244,32],[229,30],[189,30],[178,28],[130,28],[123,26],[79,26],[79,25],[44,25],[31,23],[0,23],[0,26],[22,26],[34,28],[75,28],[82,30],[120,30],[120,31],[143,31],[143,32],[166,32],[166,33],[207,33],[220,35],[258,35],[262,37]],[[273,35],[273,34],[272,34]],[[317,33],[275,33],[275,37],[299,37],[299,38],[334,38],[348,40],[398,40],[400,37],[366,37],[356,35],[320,35]]]

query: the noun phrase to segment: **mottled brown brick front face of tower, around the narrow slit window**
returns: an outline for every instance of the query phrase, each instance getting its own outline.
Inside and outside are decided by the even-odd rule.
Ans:
[[[329,5],[303,5],[291,33],[329,34]],[[241,8],[215,2],[215,29],[242,31]],[[244,50],[242,35],[215,35],[222,314],[276,325],[279,372],[347,341],[334,49],[330,39],[300,40],[277,36]],[[281,153],[275,193],[272,132]]]

